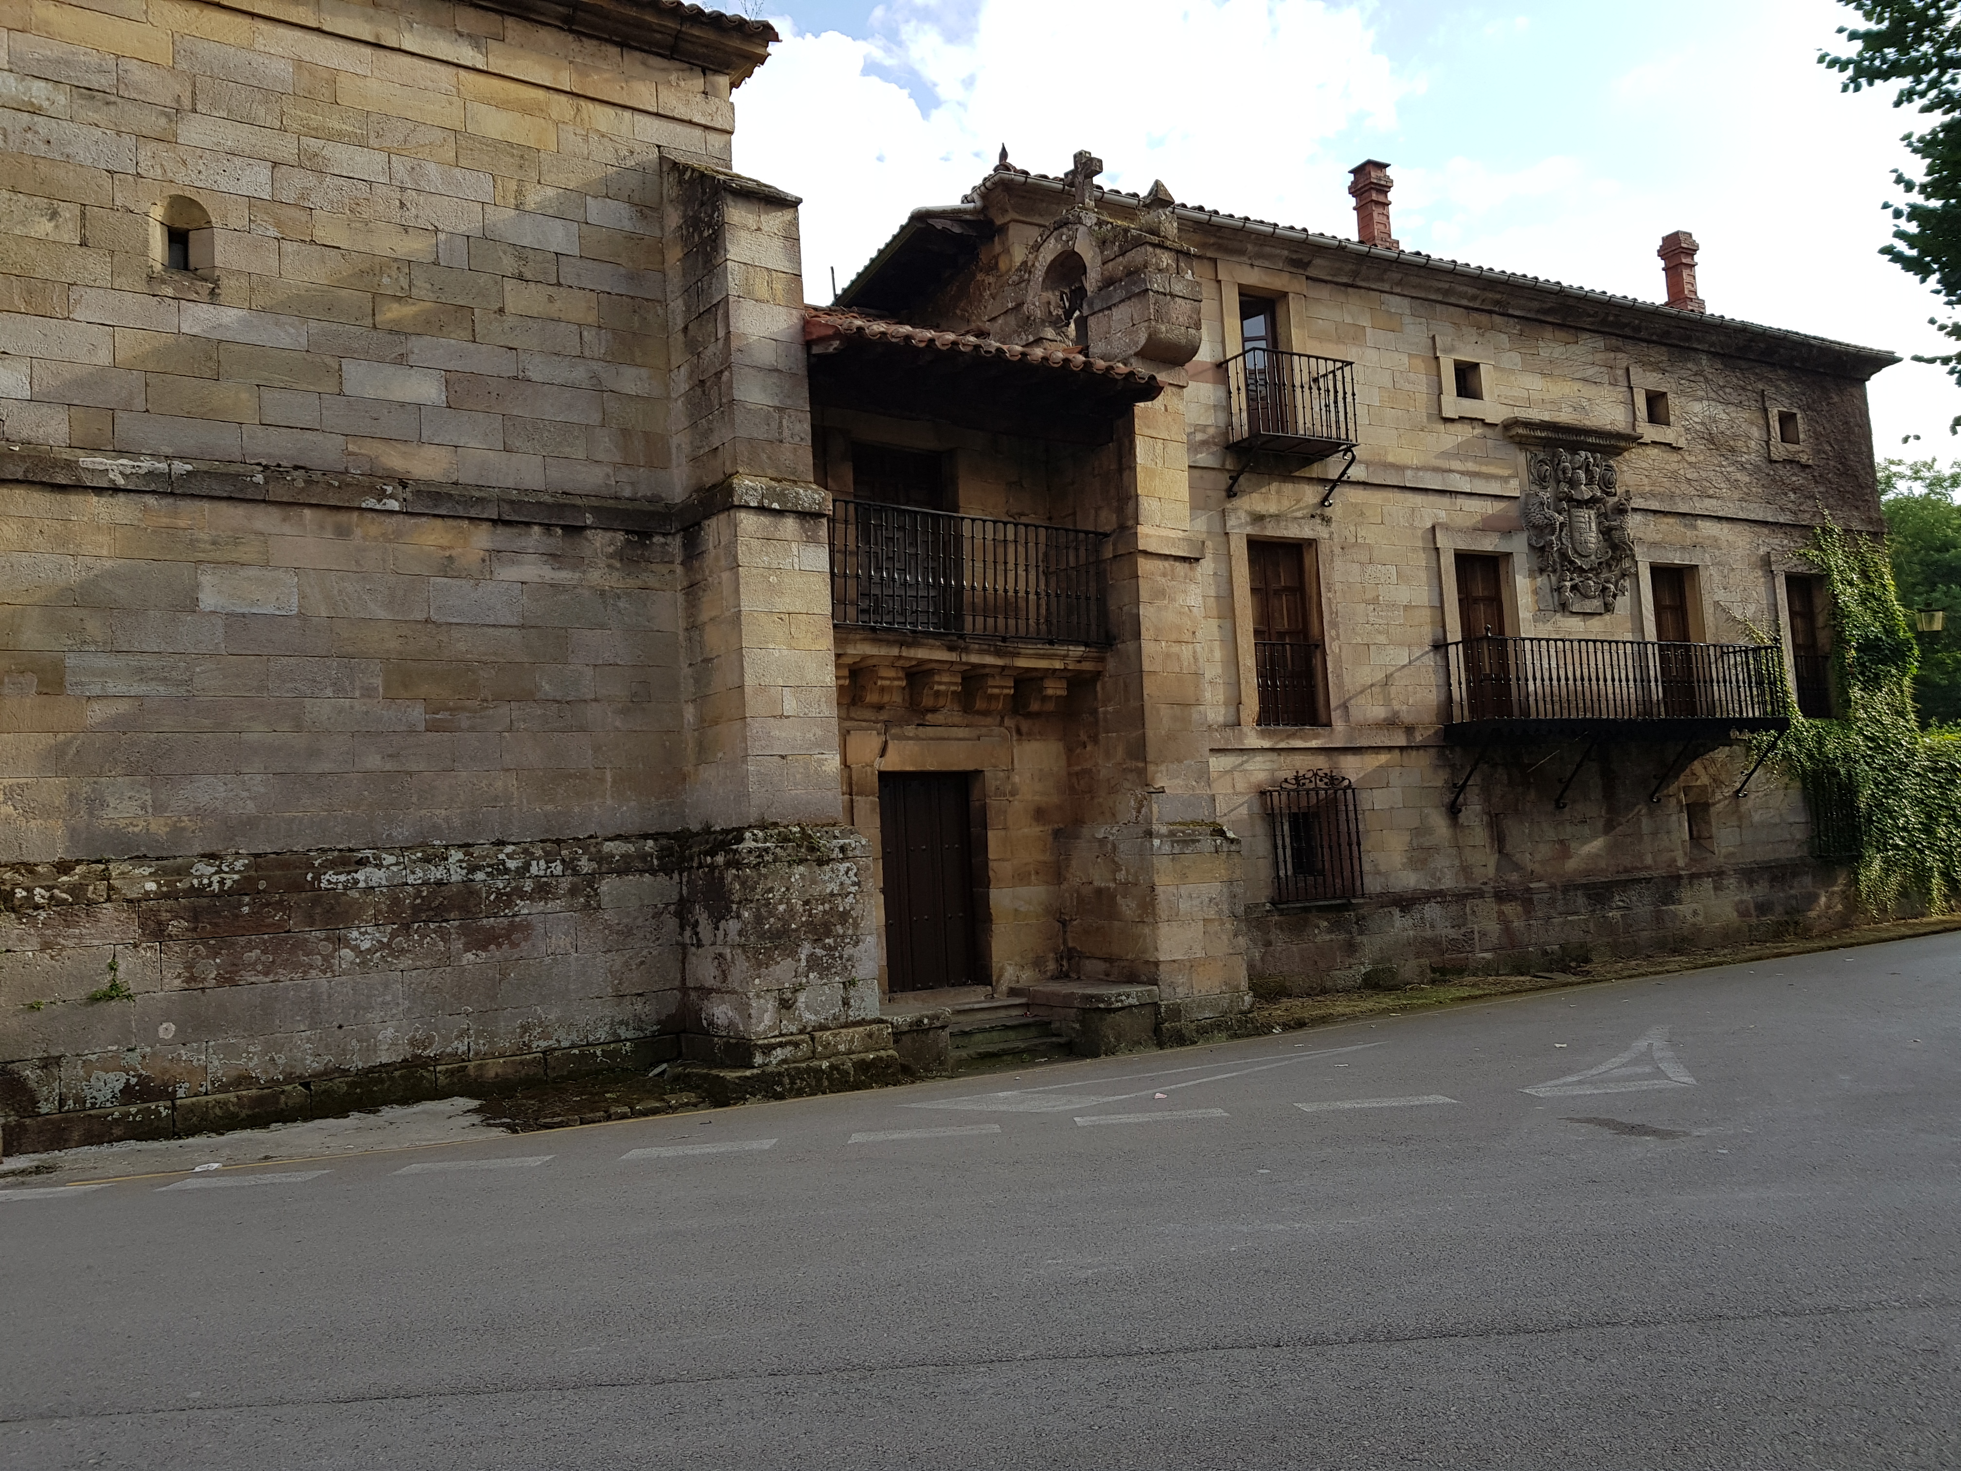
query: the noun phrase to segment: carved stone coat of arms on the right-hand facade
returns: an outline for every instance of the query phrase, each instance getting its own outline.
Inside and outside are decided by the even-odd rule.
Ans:
[[[1528,449],[1526,539],[1559,612],[1614,612],[1634,577],[1632,498],[1590,449]]]

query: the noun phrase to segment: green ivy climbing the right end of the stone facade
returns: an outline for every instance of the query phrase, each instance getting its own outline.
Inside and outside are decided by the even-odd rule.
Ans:
[[[1904,896],[1945,910],[1961,896],[1961,728],[1920,730],[1914,716],[1918,647],[1886,545],[1828,522],[1804,557],[1832,588],[1839,718],[1806,720],[1786,692],[1790,730],[1771,765],[1804,786],[1820,828],[1841,812],[1869,910]]]

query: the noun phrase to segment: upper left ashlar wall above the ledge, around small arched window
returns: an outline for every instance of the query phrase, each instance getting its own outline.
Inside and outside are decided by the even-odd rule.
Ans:
[[[659,157],[726,163],[728,76],[469,6],[0,31],[8,439],[667,494]]]

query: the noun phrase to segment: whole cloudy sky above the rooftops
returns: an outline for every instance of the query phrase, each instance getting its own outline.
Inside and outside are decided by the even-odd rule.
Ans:
[[[728,8],[737,8],[729,4]],[[763,0],[784,41],[735,92],[735,167],[804,196],[830,298],[920,204],[1006,143],[1063,173],[1351,235],[1347,169],[1388,159],[1406,249],[1659,300],[1702,243],[1712,312],[1941,351],[1939,302],[1877,255],[1900,133],[1816,63],[1835,0]],[[1881,455],[1961,455],[1961,390],[1873,380]],[[1904,435],[1924,435],[1900,447]]]

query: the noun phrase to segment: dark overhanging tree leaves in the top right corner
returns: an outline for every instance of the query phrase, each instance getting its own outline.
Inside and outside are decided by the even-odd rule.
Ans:
[[[1867,22],[1839,25],[1837,33],[1857,51],[1849,57],[1820,53],[1820,65],[1843,73],[1847,92],[1898,84],[1892,106],[1912,106],[1934,120],[1926,131],[1900,139],[1920,159],[1920,177],[1892,171],[1904,202],[1885,206],[1900,224],[1892,231],[1894,243],[1881,255],[1932,284],[1949,308],[1961,308],[1961,0],[1847,4]],[[1934,326],[1961,341],[1961,322],[1936,320]],[[1939,363],[1961,382],[1961,351],[1914,361]],[[1947,428],[1961,430],[1961,416]]]

